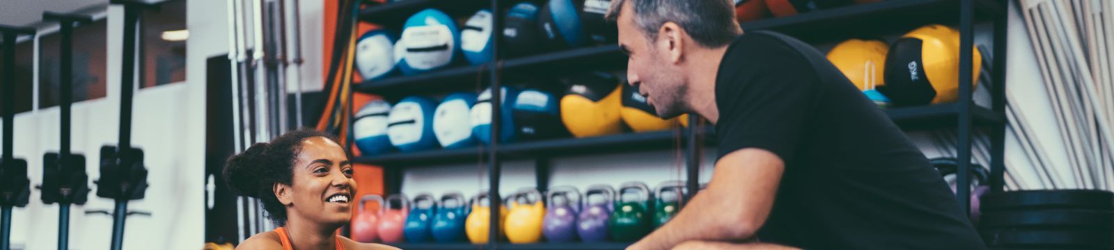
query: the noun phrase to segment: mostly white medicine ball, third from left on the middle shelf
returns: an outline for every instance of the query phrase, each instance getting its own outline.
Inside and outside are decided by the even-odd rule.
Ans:
[[[433,111],[433,134],[441,148],[456,149],[476,144],[472,137],[471,108],[475,93],[453,93],[444,97]]]

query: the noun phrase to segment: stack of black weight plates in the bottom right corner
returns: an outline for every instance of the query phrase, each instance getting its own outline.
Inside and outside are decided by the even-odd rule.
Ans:
[[[1025,190],[988,193],[979,233],[991,249],[1114,249],[1114,193]]]

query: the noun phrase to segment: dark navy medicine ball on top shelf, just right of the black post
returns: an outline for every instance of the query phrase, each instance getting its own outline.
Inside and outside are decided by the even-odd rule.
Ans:
[[[501,48],[506,48],[508,57],[521,57],[543,51],[538,43],[538,6],[530,2],[519,2],[507,11],[502,28]]]

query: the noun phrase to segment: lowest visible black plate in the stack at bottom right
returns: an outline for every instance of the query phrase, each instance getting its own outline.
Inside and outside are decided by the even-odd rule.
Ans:
[[[1000,229],[979,232],[989,247],[1007,248],[1114,248],[1110,231]]]

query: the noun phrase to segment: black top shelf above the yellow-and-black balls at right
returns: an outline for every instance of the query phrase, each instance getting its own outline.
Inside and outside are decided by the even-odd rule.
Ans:
[[[1004,14],[995,0],[974,0],[975,19]],[[902,33],[929,23],[958,24],[960,0],[891,0],[741,23],[746,30],[773,30],[807,42],[832,42]],[[946,14],[940,14],[946,13]]]

